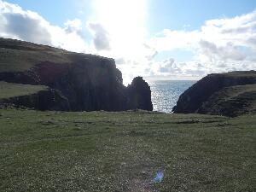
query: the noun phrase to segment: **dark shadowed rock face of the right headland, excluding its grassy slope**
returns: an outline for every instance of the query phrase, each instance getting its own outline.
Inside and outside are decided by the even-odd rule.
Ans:
[[[218,94],[218,91],[227,87],[245,84],[256,84],[255,71],[207,75],[207,77],[201,79],[186,90],[179,97],[177,106],[172,110],[174,113],[211,113],[212,105],[209,103],[213,103],[212,101],[216,100],[213,97],[223,96],[221,93]],[[234,105],[230,105],[230,108],[233,108]],[[218,106],[216,108],[222,107]],[[239,105],[237,105],[236,108],[239,108]],[[236,108],[233,109],[236,110]],[[217,110],[214,114],[231,116],[228,112],[228,108],[226,108],[225,111],[225,113],[220,113],[220,110]]]

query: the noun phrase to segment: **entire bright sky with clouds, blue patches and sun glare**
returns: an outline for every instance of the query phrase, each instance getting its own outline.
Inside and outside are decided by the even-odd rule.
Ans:
[[[125,84],[256,69],[255,0],[0,0],[0,37],[115,59]]]

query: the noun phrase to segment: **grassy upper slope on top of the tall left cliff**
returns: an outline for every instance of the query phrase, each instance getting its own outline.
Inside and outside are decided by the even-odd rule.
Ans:
[[[67,63],[67,53],[63,49],[0,38],[0,73],[26,71],[42,61]]]

